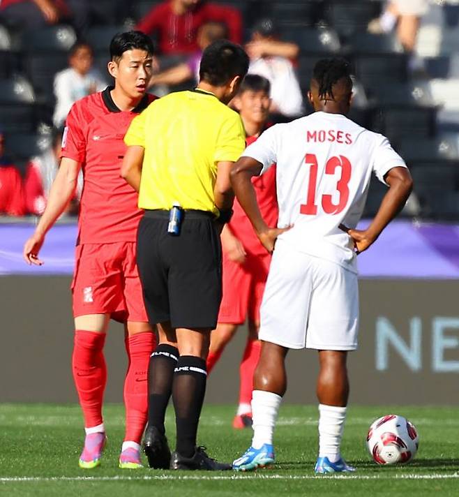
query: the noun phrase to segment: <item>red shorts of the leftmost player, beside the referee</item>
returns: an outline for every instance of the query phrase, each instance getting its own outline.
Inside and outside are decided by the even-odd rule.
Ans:
[[[77,246],[71,286],[75,318],[108,313],[121,322],[148,322],[135,245],[116,242]]]

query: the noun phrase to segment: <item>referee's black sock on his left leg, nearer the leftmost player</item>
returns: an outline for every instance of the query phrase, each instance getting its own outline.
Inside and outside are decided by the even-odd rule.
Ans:
[[[172,394],[174,369],[179,360],[179,350],[167,343],[160,343],[150,356],[148,378],[148,422],[165,433],[164,417]]]

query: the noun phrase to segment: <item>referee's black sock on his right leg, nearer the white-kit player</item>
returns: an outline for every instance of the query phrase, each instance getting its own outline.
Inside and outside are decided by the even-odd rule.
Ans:
[[[172,400],[176,422],[176,452],[193,457],[196,447],[197,424],[206,392],[206,361],[201,357],[183,355],[174,371]]]

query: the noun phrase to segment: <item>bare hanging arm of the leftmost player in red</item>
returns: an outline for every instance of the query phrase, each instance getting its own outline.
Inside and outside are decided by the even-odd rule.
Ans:
[[[57,218],[63,214],[75,195],[80,169],[81,163],[71,158],[62,158],[56,179],[51,187],[45,212],[43,212],[35,232],[24,244],[23,256],[27,264],[43,265],[43,260],[38,259],[38,252],[45,241],[46,233],[52,228]]]

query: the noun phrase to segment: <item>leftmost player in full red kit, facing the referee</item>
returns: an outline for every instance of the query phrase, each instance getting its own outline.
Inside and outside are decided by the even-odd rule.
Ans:
[[[135,237],[142,211],[137,193],[119,175],[130,121],[154,96],[146,94],[153,45],[140,31],[117,34],[110,43],[108,71],[114,87],[77,101],[63,133],[61,166],[40,222],[24,245],[29,264],[45,235],[75,193],[83,170],[75,274],[72,282],[75,344],[73,378],[84,415],[86,438],[81,468],[100,464],[105,445],[102,417],[107,378],[103,346],[110,318],[125,324],[128,372],[124,385],[126,434],[120,468],[140,468],[140,439],[147,413],[146,376],[154,336],[143,304],[135,262]]]

